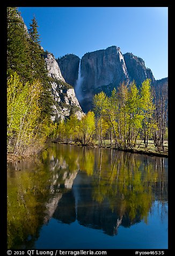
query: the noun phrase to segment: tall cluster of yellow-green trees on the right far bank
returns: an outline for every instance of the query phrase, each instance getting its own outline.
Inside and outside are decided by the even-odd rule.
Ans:
[[[134,81],[129,86],[121,83],[118,90],[113,89],[111,97],[103,92],[95,95],[93,104],[100,141],[106,135],[103,120],[108,123],[108,130],[111,127],[111,137],[114,138],[116,147],[134,147],[140,136],[148,141],[156,130],[150,79],[142,83],[140,90]]]

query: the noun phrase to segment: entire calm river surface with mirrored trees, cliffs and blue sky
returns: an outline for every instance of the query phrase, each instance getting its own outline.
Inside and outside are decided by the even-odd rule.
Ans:
[[[167,248],[167,158],[51,143],[8,164],[8,248]]]

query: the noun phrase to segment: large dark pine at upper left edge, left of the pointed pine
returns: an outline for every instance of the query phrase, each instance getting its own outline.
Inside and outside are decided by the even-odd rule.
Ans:
[[[7,8],[7,72],[17,72],[21,80],[30,78],[27,31],[16,7]]]

